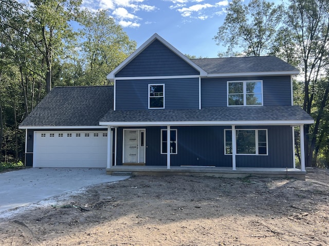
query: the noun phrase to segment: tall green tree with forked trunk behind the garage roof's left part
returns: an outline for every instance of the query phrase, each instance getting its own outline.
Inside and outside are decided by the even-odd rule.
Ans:
[[[46,92],[51,90],[52,64],[63,53],[65,42],[75,38],[69,22],[75,19],[81,0],[31,0],[26,6],[0,0],[3,25],[26,36],[46,63]]]

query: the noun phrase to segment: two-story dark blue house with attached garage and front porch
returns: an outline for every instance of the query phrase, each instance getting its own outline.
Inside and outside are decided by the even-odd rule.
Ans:
[[[189,59],[158,34],[108,74],[114,86],[54,88],[20,125],[26,166],[286,174],[299,71],[275,56]]]

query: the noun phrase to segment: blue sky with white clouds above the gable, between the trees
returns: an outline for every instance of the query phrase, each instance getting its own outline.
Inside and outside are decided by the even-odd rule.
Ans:
[[[216,35],[227,0],[83,0],[83,7],[107,9],[129,37],[142,45],[158,33],[183,54],[217,57],[225,48]]]

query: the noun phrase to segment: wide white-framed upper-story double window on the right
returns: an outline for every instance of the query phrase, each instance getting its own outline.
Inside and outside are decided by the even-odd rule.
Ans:
[[[263,81],[227,81],[228,106],[263,105]]]

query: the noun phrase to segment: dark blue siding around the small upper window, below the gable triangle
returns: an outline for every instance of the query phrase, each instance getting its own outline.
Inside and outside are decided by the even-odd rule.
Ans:
[[[148,109],[149,84],[165,84],[166,109],[198,109],[199,79],[135,79],[116,81],[116,110]]]

